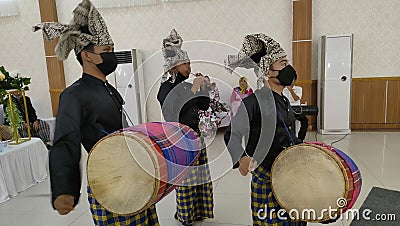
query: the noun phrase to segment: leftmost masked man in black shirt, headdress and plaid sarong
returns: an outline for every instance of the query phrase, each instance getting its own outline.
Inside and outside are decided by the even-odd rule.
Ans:
[[[106,76],[117,67],[114,43],[106,24],[89,0],[74,10],[70,25],[44,23],[45,37],[61,36],[56,54],[64,60],[74,49],[83,75],[60,96],[53,148],[49,155],[53,207],[61,215],[77,205],[81,189],[79,161],[81,143],[86,151],[101,138],[122,129],[124,101]],[[121,216],[104,209],[88,186],[88,199],[96,225],[159,225],[155,206],[132,216]]]

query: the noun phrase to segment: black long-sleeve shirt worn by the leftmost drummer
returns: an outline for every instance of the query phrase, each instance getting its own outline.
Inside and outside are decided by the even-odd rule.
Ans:
[[[107,82],[83,74],[60,96],[54,145],[49,154],[52,203],[57,196],[80,196],[81,143],[90,151],[101,138],[122,129],[123,99]]]

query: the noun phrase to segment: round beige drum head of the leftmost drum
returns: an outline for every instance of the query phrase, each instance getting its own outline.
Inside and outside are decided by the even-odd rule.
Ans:
[[[92,148],[87,162],[88,184],[95,199],[108,211],[132,215],[153,203],[159,172],[157,157],[134,133],[115,133]]]

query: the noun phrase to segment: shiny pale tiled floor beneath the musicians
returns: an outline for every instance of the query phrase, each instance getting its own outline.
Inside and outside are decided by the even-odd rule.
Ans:
[[[342,138],[341,135],[317,135],[310,132],[306,141],[331,144]],[[215,219],[196,225],[251,225],[250,175],[243,177],[237,170],[230,170],[231,163],[222,134],[208,141],[208,155],[214,179]],[[353,132],[335,147],[348,153],[357,163],[362,173],[363,187],[354,208],[359,208],[373,186],[400,191],[400,133]],[[87,155],[84,155],[84,158]],[[83,162],[84,161],[83,158]],[[84,168],[84,164],[82,164]],[[86,182],[84,182],[84,187]],[[18,194],[11,200],[0,204],[0,226],[83,226],[93,225],[86,191],[82,192],[80,203],[67,216],[59,216],[52,210],[49,199],[49,180],[37,184]],[[175,194],[170,194],[157,204],[161,226],[179,225],[173,219]],[[399,218],[400,216],[397,216]],[[349,225],[349,221],[338,221],[330,225]],[[318,225],[318,224],[309,224]]]

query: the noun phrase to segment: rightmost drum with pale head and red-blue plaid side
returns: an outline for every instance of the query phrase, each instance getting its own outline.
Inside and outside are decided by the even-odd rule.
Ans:
[[[361,184],[354,161],[324,143],[291,146],[276,158],[271,169],[277,202],[291,217],[302,221],[338,219],[354,205]]]

